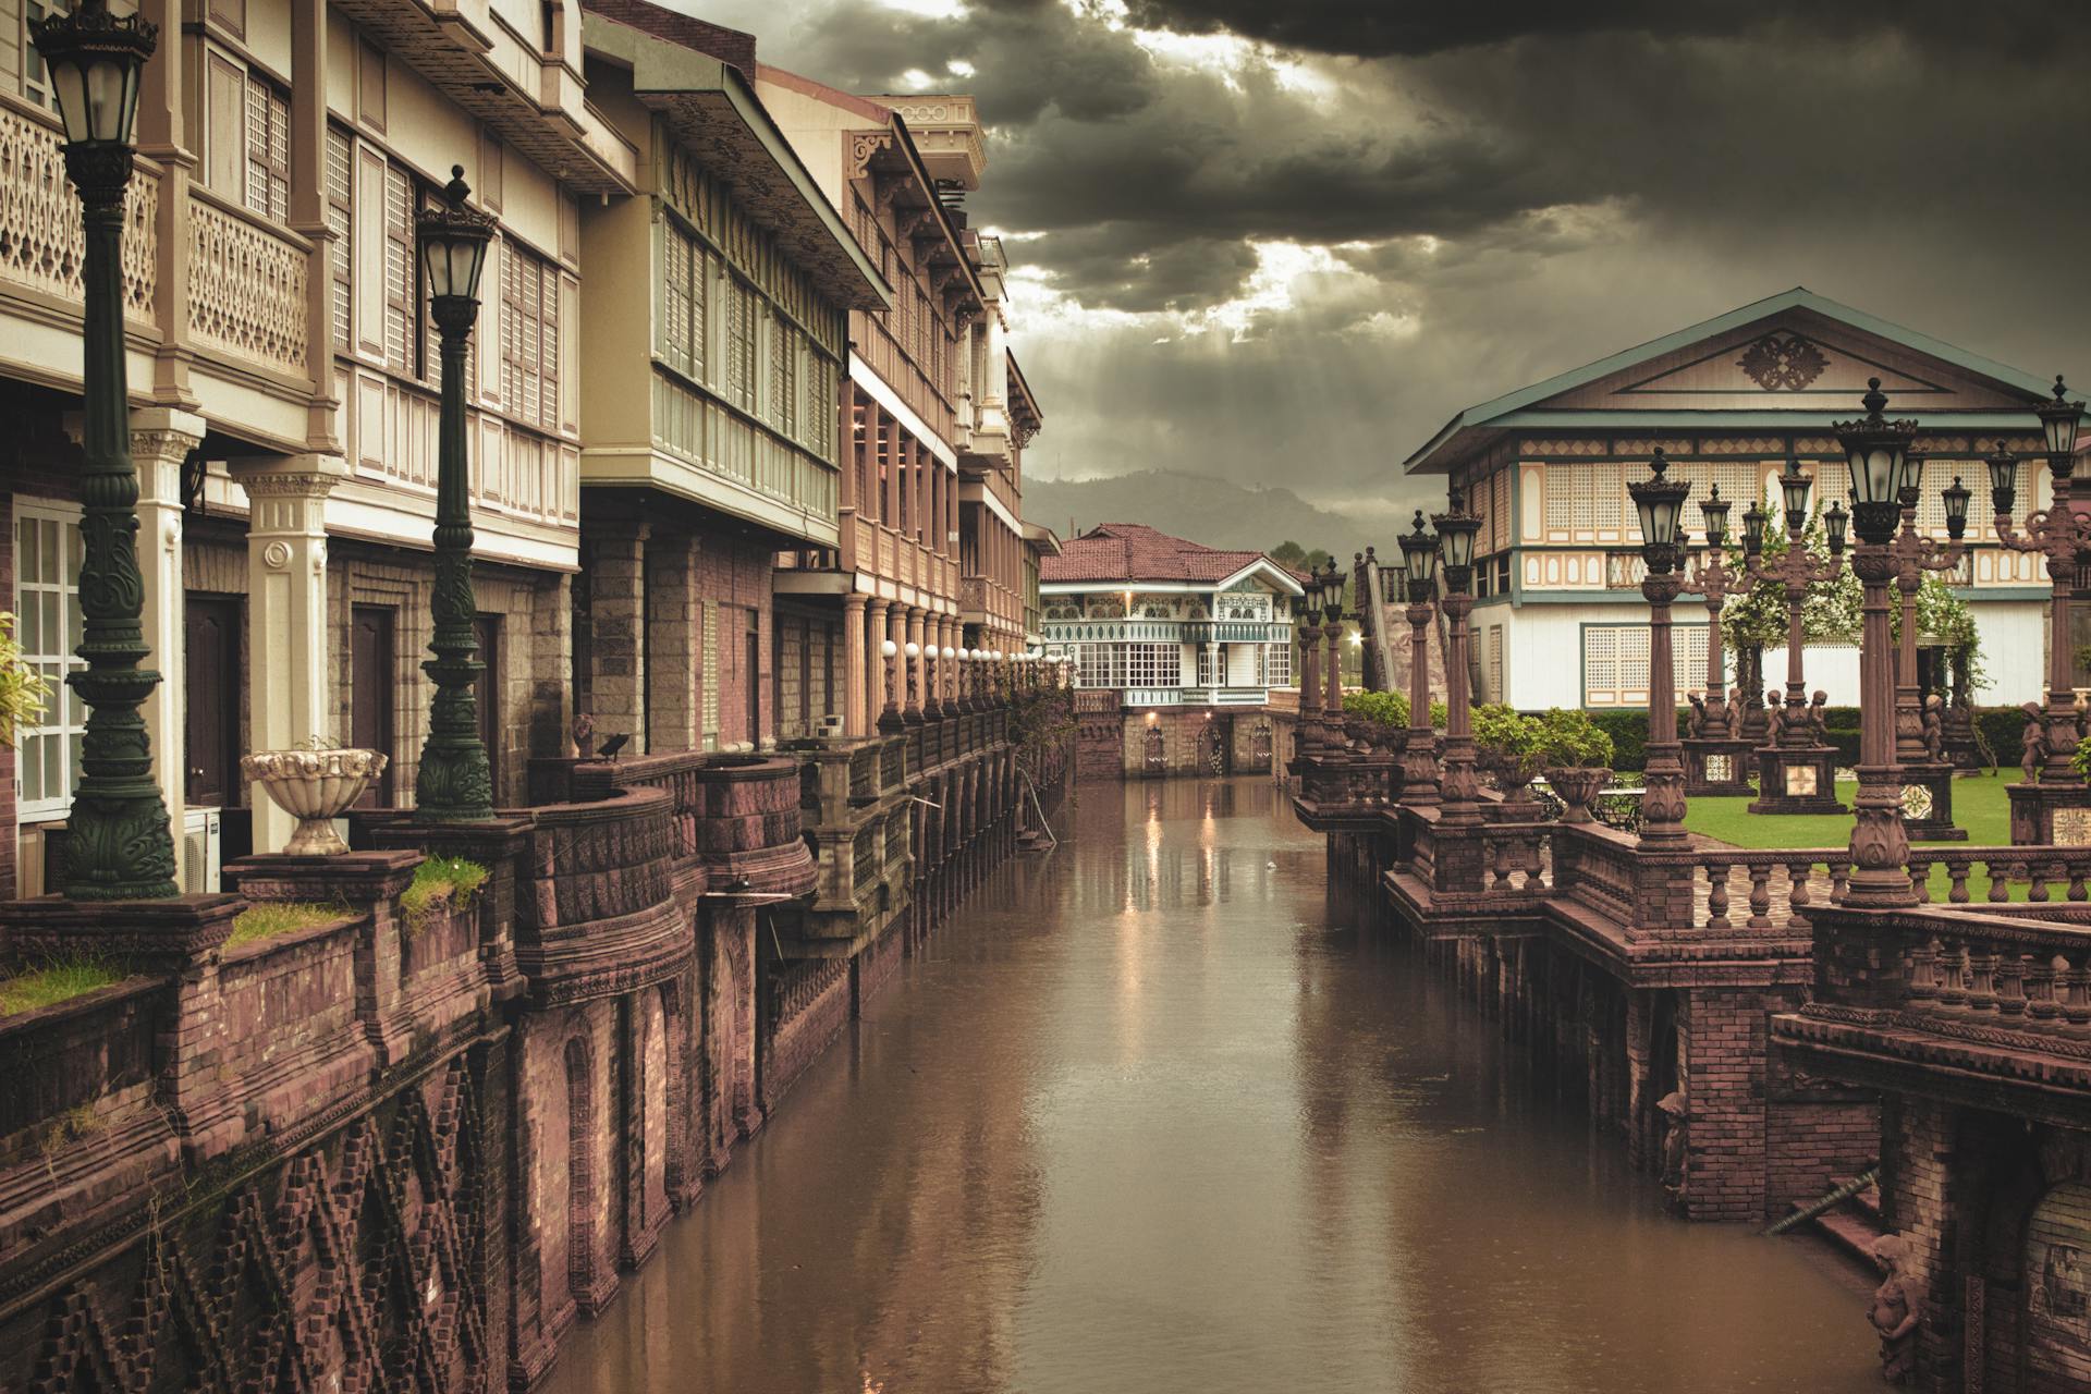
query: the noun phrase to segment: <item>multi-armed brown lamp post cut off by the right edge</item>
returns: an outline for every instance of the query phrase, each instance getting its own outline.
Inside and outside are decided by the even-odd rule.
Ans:
[[[1997,541],[2012,552],[2039,552],[2047,558],[2049,633],[2047,633],[2047,763],[2041,784],[2081,786],[2070,769],[2076,754],[2076,669],[2070,644],[2070,596],[2076,589],[2076,556],[2091,548],[2091,516],[2070,506],[2070,472],[2076,464],[2076,426],[2085,403],[2068,399],[2068,387],[2055,376],[2055,395],[2039,408],[2041,435],[2047,445],[2047,470],[2053,477],[2053,502],[2026,516],[2026,531],[2012,527],[2018,487],[2018,458],[1997,441],[1989,458],[1989,487],[1997,508]]]

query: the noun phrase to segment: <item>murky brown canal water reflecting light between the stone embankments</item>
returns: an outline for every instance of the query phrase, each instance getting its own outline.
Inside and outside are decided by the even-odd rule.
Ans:
[[[1081,788],[569,1333],[562,1394],[1794,1390],[1871,1283],[1652,1181],[1265,780]]]

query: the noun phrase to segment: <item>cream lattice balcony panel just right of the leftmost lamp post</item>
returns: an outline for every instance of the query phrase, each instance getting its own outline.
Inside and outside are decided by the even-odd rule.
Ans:
[[[205,190],[188,194],[188,332],[270,372],[305,372],[312,247]]]

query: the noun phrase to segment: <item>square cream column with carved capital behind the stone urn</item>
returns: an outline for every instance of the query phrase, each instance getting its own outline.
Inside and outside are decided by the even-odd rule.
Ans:
[[[249,746],[286,750],[314,736],[347,742],[328,681],[337,640],[326,623],[326,495],[349,470],[341,456],[232,460],[247,491]],[[253,790],[255,853],[280,853],[297,821]]]

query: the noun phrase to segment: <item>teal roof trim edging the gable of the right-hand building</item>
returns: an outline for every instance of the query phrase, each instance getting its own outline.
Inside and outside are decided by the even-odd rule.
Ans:
[[[1832,301],[1825,295],[1815,295],[1807,286],[1794,286],[1792,291],[1782,291],[1779,295],[1771,295],[1771,297],[1765,297],[1761,301],[1752,301],[1748,305],[1742,305],[1740,309],[1729,309],[1725,316],[1715,316],[1713,320],[1702,320],[1700,324],[1685,326],[1681,330],[1664,334],[1662,339],[1652,339],[1652,341],[1648,341],[1644,345],[1635,345],[1631,349],[1623,349],[1618,353],[1612,353],[1610,357],[1602,357],[1602,359],[1598,359],[1593,364],[1585,364],[1581,368],[1572,368],[1572,370],[1556,374],[1556,376],[1552,376],[1552,378],[1547,378],[1543,382],[1533,382],[1531,387],[1520,387],[1514,393],[1503,393],[1501,397],[1495,397],[1491,401],[1483,401],[1480,405],[1468,408],[1468,410],[1460,412],[1457,416],[1453,416],[1449,422],[1445,422],[1445,426],[1439,428],[1439,433],[1432,435],[1422,445],[1422,449],[1418,449],[1407,460],[1403,460],[1401,468],[1403,468],[1405,474],[1422,472],[1424,466],[1426,466],[1426,462],[1430,460],[1430,456],[1434,456],[1460,431],[1478,428],[1478,426],[1539,424],[1535,420],[1512,422],[1512,420],[1503,420],[1503,418],[1510,416],[1512,412],[1520,412],[1522,408],[1533,405],[1535,401],[1545,401],[1547,397],[1556,397],[1560,393],[1572,391],[1572,389],[1583,387],[1587,382],[1595,382],[1598,378],[1610,376],[1614,372],[1621,372],[1621,370],[1631,368],[1635,364],[1648,362],[1652,357],[1660,357],[1664,353],[1671,353],[1671,351],[1677,351],[1677,349],[1685,349],[1685,347],[1690,347],[1690,345],[1694,345],[1694,343],[1698,343],[1702,339],[1713,339],[1715,334],[1725,334],[1727,330],[1742,328],[1744,324],[1752,324],[1754,320],[1765,320],[1765,318],[1775,316],[1775,313],[1779,313],[1784,309],[1813,309],[1815,313],[1819,313],[1819,316],[1823,316],[1828,320],[1838,320],[1842,324],[1851,324],[1853,328],[1863,330],[1867,334],[1876,334],[1876,336],[1886,339],[1890,343],[1899,343],[1899,345],[1903,345],[1907,349],[1913,349],[1917,353],[1924,353],[1928,357],[1936,357],[1940,362],[1947,362],[1947,364],[1953,364],[1957,368],[1963,368],[1966,372],[1972,372],[1972,374],[1991,378],[1995,382],[2001,382],[2003,387],[2014,387],[2018,391],[2024,391],[2024,393],[2028,393],[2032,397],[2032,401],[2045,399],[2047,393],[2051,391],[2051,385],[2047,380],[2037,378],[2037,376],[2026,374],[2026,372],[2020,372],[2018,368],[2007,368],[2005,364],[1986,359],[1980,353],[1968,353],[1966,349],[1957,349],[1957,347],[1953,347],[1953,345],[1949,345],[1949,343],[1945,343],[1940,339],[1932,339],[1930,334],[1920,334],[1917,330],[1903,328],[1901,324],[1890,324],[1888,320],[1880,320],[1876,316],[1869,316],[1863,309],[1853,309],[1851,305],[1842,305],[1838,301]],[[2028,408],[2030,408],[2030,401],[2028,401]],[[1662,422],[1681,420],[1683,418],[1683,414],[1679,414],[1679,412],[1660,414],[1660,416],[1656,416],[1656,414],[1637,414],[1637,412],[1547,412],[1545,416],[1549,416],[1549,418],[1554,418],[1554,416],[1589,416],[1589,418],[1595,418],[1595,420],[1591,420],[1587,424],[1616,422],[1621,426],[1635,424],[1635,418],[1641,418],[1641,420],[1662,420]],[[1786,412],[1706,412],[1706,416],[1708,418],[1717,416],[1723,422],[1733,422],[1738,426],[1748,424],[1748,422],[1752,422],[1756,418],[1779,418],[1779,420],[1788,420],[1788,422],[1807,422],[1807,420],[1813,418],[1813,414],[1809,414],[1809,412],[1792,412],[1792,414],[1786,414]],[[1828,420],[1842,420],[1846,416],[1857,416],[1857,410],[1844,412],[1840,416],[1823,414],[1821,420],[1823,422],[1828,422]],[[1947,418],[1926,418],[1926,420],[1928,422],[1945,422]],[[1982,418],[1982,420],[1993,422],[1995,418]],[[1570,422],[1560,420],[1560,422],[1552,422],[1552,424],[1570,424]]]

